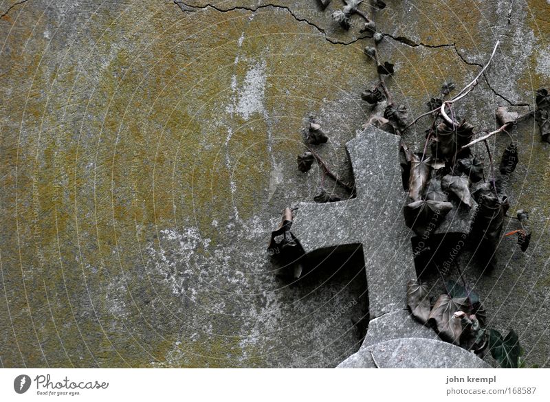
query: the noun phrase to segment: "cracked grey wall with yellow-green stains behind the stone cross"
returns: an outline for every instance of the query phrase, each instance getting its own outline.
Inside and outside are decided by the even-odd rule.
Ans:
[[[479,129],[498,105],[527,110],[550,86],[549,5],[516,0],[508,23],[510,1],[386,1],[397,102],[425,111],[500,38],[457,110]],[[349,32],[331,21],[337,0],[210,3],[0,1],[2,366],[337,366],[358,350],[362,258],[289,283],[265,247],[319,184],[295,166],[310,113],[330,136],[318,152],[350,178],[344,144],[373,112],[369,40],[355,17]],[[548,366],[550,146],[532,121],[513,135],[511,213],[531,212],[531,247],[503,239],[483,276],[462,264],[490,325]]]

